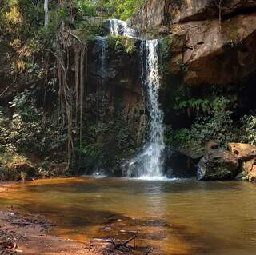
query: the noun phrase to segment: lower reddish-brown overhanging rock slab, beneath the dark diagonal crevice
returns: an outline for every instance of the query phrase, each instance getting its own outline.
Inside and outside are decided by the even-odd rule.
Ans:
[[[191,85],[228,84],[254,74],[256,66],[256,14],[176,24],[173,33],[171,72],[186,66],[185,82]]]

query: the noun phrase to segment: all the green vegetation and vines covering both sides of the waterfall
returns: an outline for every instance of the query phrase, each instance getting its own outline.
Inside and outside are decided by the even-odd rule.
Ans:
[[[98,80],[96,91],[90,91],[86,75],[93,39],[106,35],[106,27],[97,20],[130,18],[145,2],[53,1],[48,6],[46,24],[43,1],[2,1],[1,169],[17,158],[30,161],[30,154],[39,158],[32,165],[44,176],[58,174],[58,169],[65,167],[68,174],[70,169],[78,173],[79,169],[113,168],[138,149],[140,143],[134,137],[138,126],[134,123],[139,122],[140,114],[134,114],[128,122],[122,100],[113,106]],[[179,6],[182,1],[170,3]],[[163,38],[160,50],[163,78],[174,83],[168,66],[172,40],[172,36]],[[113,55],[109,58],[137,55],[134,39],[109,36],[107,45],[106,50]],[[180,82],[186,66],[181,62],[176,65]],[[96,79],[99,78],[100,75]],[[230,141],[256,144],[255,114],[234,118],[238,98],[215,89],[196,94],[180,83],[177,87],[165,106],[166,113],[185,116],[188,123],[173,129],[173,123],[166,122],[167,145],[200,150],[207,141],[215,141],[223,148]]]

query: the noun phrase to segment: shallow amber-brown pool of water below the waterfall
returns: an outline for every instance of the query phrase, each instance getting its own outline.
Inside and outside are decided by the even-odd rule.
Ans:
[[[155,255],[256,253],[256,185],[246,182],[42,180],[0,194],[0,205],[45,215],[77,241],[138,232]]]

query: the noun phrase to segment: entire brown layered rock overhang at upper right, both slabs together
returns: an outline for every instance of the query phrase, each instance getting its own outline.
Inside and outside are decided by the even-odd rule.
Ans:
[[[170,72],[186,69],[187,84],[226,85],[256,72],[255,0],[150,0],[131,23],[151,32],[166,27]]]

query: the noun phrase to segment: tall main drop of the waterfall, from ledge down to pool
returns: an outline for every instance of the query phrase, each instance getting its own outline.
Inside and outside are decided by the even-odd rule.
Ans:
[[[144,56],[146,51],[146,56]],[[158,40],[142,41],[142,83],[146,90],[150,114],[149,137],[146,145],[128,166],[129,176],[145,179],[162,177],[162,152],[165,149],[163,113],[158,101],[160,78],[158,72]]]

